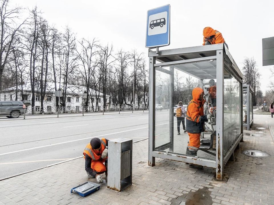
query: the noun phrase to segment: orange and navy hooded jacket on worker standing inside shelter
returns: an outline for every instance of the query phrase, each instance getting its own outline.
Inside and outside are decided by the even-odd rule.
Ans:
[[[204,116],[204,104],[205,100],[199,100],[201,93],[204,90],[196,87],[192,91],[193,99],[188,103],[186,113],[186,131],[189,133],[200,133],[204,131],[204,122],[207,121],[207,117]]]

